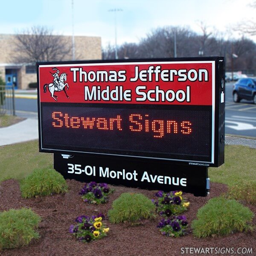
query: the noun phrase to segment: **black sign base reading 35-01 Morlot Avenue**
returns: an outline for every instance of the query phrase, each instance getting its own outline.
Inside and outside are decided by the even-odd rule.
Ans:
[[[67,155],[66,155],[67,156]],[[207,196],[208,167],[170,164],[154,159],[82,156],[63,158],[54,154],[54,169],[65,179],[95,181],[166,192],[182,190],[195,196]]]

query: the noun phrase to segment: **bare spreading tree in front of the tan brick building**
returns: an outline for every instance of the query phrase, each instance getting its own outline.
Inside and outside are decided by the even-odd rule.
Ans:
[[[43,26],[33,26],[15,35],[17,63],[34,64],[38,61],[61,61],[70,54],[71,44],[61,35]]]

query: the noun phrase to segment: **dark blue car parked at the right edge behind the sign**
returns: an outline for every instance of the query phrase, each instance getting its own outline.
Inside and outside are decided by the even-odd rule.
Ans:
[[[242,78],[233,85],[233,101],[252,100],[256,104],[256,79]]]

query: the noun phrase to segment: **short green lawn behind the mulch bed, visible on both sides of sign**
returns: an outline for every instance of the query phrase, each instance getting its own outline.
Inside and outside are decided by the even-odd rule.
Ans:
[[[53,166],[53,154],[39,153],[38,141],[0,147],[0,181],[21,180],[35,168]],[[225,163],[209,168],[210,181],[233,185],[237,181],[256,180],[256,149],[241,145],[225,146]]]

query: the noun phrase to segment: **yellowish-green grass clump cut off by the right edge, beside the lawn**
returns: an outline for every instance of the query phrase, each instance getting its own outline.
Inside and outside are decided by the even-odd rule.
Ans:
[[[256,180],[241,180],[229,187],[228,197],[256,205]]]

